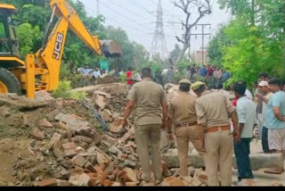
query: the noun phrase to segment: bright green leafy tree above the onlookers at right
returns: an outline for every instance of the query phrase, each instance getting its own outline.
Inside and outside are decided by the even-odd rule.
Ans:
[[[282,0],[219,0],[234,20],[209,44],[210,62],[232,73],[230,85],[245,80],[252,87],[258,73],[285,76],[285,2]]]

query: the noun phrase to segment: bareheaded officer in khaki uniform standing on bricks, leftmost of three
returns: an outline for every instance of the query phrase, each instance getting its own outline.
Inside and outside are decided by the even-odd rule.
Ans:
[[[163,88],[151,81],[151,69],[142,69],[142,81],[134,84],[127,99],[123,126],[134,109],[135,142],[142,164],[142,173],[138,173],[137,179],[150,182],[152,167],[159,184],[163,180],[159,143],[161,129],[167,127],[167,99]]]

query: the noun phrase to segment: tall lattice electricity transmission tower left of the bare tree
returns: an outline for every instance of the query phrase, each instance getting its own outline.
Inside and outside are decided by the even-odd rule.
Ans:
[[[163,9],[161,0],[159,0],[158,4],[156,27],[151,43],[151,54],[159,54],[159,57],[162,59],[167,58],[168,55],[167,41],[163,29]]]

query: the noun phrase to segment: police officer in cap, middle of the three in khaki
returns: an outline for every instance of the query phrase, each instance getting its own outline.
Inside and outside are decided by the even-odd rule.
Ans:
[[[183,177],[189,176],[188,151],[189,142],[194,145],[199,154],[203,154],[199,141],[201,130],[197,125],[195,101],[197,97],[189,93],[191,81],[182,79],[179,82],[179,93],[170,101],[168,108],[167,133],[170,140],[173,139],[172,125],[175,127],[175,137],[178,147],[180,173]]]

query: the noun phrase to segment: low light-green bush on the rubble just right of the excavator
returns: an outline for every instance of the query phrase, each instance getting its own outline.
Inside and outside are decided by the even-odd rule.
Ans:
[[[65,99],[75,99],[75,100],[84,100],[86,93],[85,92],[74,92],[71,91],[71,82],[68,80],[62,80],[59,83],[59,86],[55,91],[52,92],[53,97],[65,98]]]

